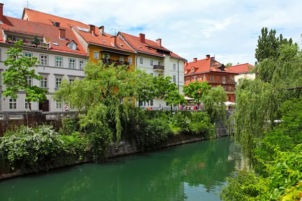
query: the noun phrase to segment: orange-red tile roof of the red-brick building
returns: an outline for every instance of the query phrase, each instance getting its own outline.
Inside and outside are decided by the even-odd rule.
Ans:
[[[192,67],[194,67],[194,73],[192,73]],[[220,67],[224,67],[224,65],[216,61],[214,57],[209,59],[201,59],[196,62],[190,62],[187,66],[185,66],[185,70],[187,70],[185,76],[204,72],[224,72],[237,74],[226,67],[224,67],[224,70],[221,70],[219,69]]]

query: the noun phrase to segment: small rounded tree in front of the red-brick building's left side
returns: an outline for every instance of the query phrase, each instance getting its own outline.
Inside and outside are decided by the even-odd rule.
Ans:
[[[211,86],[207,84],[207,81],[198,82],[198,80],[196,80],[195,82],[191,82],[187,86],[184,86],[183,92],[185,93],[185,95],[194,98],[192,102],[196,103],[199,106],[202,98],[211,89]]]

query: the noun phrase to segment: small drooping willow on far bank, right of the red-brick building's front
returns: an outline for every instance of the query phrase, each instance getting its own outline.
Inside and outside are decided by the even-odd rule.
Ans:
[[[205,111],[212,121],[216,118],[224,119],[225,105],[223,102],[228,98],[222,86],[212,87],[203,99]]]

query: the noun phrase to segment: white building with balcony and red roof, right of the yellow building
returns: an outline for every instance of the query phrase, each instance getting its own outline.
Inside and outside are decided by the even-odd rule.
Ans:
[[[122,32],[119,32],[117,36],[123,38],[137,52],[135,56],[135,65],[137,67],[152,76],[171,76],[172,81],[176,82],[179,87],[179,93],[183,94],[184,62],[186,59],[163,47],[162,39],[158,39],[155,42],[145,39],[144,34],[139,34],[139,37],[137,37]],[[138,102],[136,105],[138,106]],[[160,98],[140,103],[140,106],[153,107],[153,110],[158,110],[160,106],[170,109],[170,106]]]

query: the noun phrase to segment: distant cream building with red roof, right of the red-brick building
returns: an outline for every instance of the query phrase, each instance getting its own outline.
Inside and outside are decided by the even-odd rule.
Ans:
[[[253,66],[249,63],[244,63],[244,64],[239,64],[239,65],[228,67],[228,69],[232,70],[233,72],[238,73],[237,75],[235,75],[235,81],[237,84],[239,84],[239,81],[242,78],[255,79],[259,73],[250,72],[254,68],[255,68],[255,66]]]

